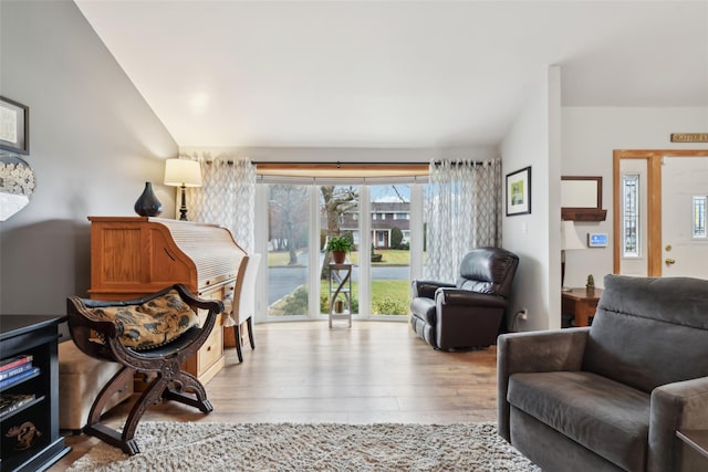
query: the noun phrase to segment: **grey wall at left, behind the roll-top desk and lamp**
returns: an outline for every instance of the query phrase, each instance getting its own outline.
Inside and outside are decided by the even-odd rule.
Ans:
[[[72,1],[0,3],[1,94],[30,107],[37,190],[0,222],[0,313],[64,314],[90,286],[88,216],[135,216],[177,145]],[[156,186],[174,214],[174,189]]]

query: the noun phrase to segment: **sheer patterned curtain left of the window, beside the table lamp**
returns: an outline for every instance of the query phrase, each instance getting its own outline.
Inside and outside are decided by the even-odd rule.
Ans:
[[[189,219],[228,228],[247,253],[256,249],[256,166],[229,156],[197,157],[201,187],[187,189]]]

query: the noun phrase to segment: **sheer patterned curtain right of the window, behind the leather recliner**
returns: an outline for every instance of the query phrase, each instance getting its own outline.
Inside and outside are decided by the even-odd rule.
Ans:
[[[425,221],[425,277],[455,282],[473,248],[501,243],[501,160],[430,162]]]

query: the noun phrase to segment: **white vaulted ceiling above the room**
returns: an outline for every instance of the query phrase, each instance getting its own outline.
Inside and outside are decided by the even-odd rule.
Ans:
[[[494,145],[564,106],[708,106],[707,1],[76,4],[180,146]]]

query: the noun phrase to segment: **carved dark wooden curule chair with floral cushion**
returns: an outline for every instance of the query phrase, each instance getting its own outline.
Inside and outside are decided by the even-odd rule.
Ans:
[[[199,308],[208,311],[201,325]],[[133,455],[139,452],[135,430],[140,417],[162,399],[209,413],[214,408],[204,386],[180,365],[207,340],[222,310],[221,302],[198,298],[183,284],[131,301],[69,297],[69,328],[76,346],[88,356],[123,366],[93,402],[84,432]],[[136,373],[153,379],[118,432],[101,422],[101,413]]]

